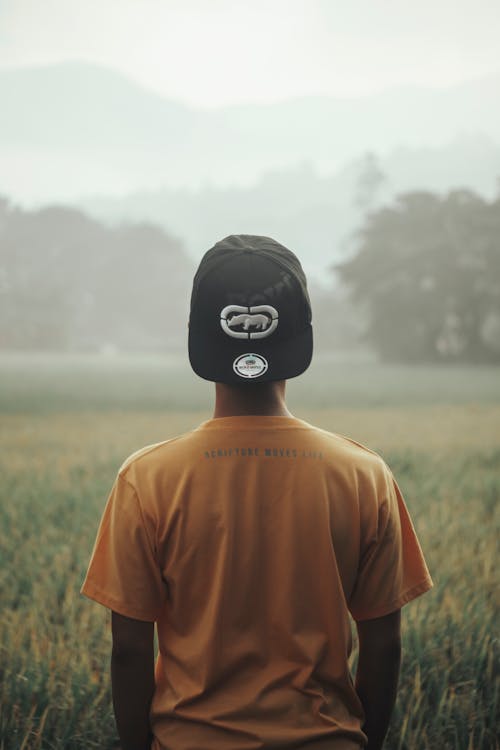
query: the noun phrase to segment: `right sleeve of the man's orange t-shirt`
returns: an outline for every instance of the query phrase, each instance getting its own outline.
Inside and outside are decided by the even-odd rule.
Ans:
[[[403,495],[384,465],[372,538],[361,549],[349,610],[357,621],[395,612],[433,583]]]

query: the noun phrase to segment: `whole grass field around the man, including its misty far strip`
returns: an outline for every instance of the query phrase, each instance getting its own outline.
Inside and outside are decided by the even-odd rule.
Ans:
[[[387,749],[498,748],[500,369],[331,359],[289,390],[384,456],[435,581],[403,610]],[[97,523],[123,459],[210,399],[182,358],[0,358],[0,750],[111,747],[109,616],[78,593]]]

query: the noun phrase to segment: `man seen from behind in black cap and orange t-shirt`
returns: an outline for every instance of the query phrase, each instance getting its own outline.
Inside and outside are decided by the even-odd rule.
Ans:
[[[400,609],[432,581],[384,461],[287,409],[311,356],[296,256],[253,235],[209,250],[189,357],[214,416],[125,461],[82,588],[112,610],[123,750],[382,747]]]

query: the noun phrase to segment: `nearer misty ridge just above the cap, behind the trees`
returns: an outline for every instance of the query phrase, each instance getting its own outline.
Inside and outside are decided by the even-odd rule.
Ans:
[[[306,271],[325,270],[350,252],[364,214],[413,189],[445,193],[469,187],[491,196],[500,176],[500,147],[488,138],[462,137],[443,148],[400,148],[376,160],[378,187],[359,203],[367,157],[331,175],[309,163],[265,173],[250,187],[138,191],[120,198],[88,198],[81,205],[101,220],[148,220],[182,237],[195,260],[231,233],[266,234],[288,244]],[[326,273],[328,281],[329,274]]]

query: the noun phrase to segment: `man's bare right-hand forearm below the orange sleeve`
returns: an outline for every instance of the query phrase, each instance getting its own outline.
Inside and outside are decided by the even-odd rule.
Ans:
[[[401,662],[401,612],[356,623],[359,660],[356,692],[365,711],[365,750],[380,750],[396,701]]]

